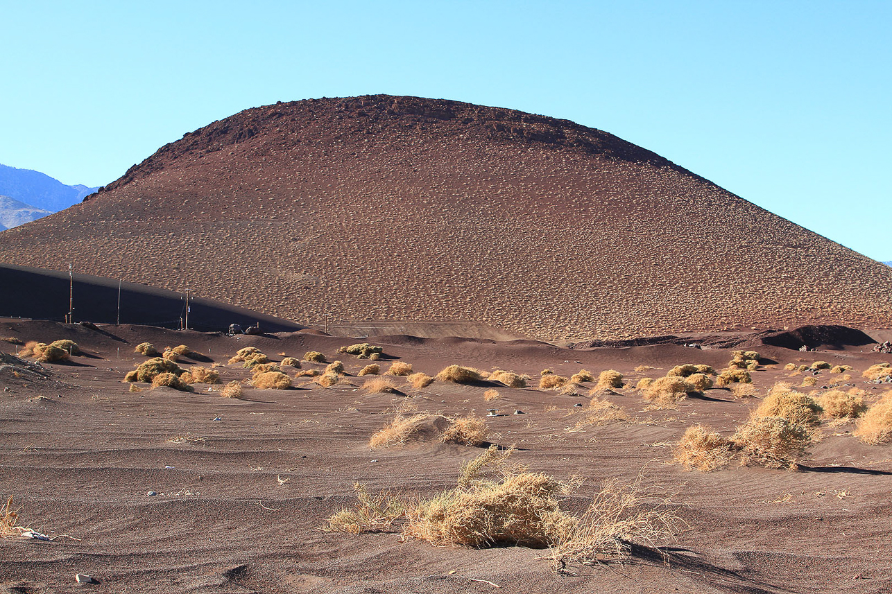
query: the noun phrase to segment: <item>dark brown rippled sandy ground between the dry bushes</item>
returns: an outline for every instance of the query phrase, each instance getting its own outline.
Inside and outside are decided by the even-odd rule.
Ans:
[[[495,384],[436,382],[405,395],[359,392],[355,376],[368,361],[337,356],[350,339],[318,334],[230,338],[145,326],[80,326],[47,322],[0,324],[0,336],[50,341],[72,338],[86,354],[47,364],[46,379],[0,371],[0,496],[15,496],[20,524],[55,538],[0,540],[0,591],[63,592],[888,592],[892,589],[892,446],[856,440],[854,425],[827,425],[800,469],[731,467],[704,474],[672,463],[672,443],[695,423],[731,433],[758,400],[726,390],[645,410],[640,393],[609,400],[634,422],[587,425],[585,396],[499,385],[500,400],[483,400]],[[227,366],[252,345],[280,360],[305,351],[342,359],[348,376],[332,388],[297,380],[285,391],[246,389],[219,395],[168,388],[128,392],[121,378],[136,362],[138,342],[185,343],[224,364],[221,379],[249,377]],[[434,375],[452,363],[496,367],[538,377],[615,368],[632,382],[673,365],[723,367],[730,351],[659,345],[568,351],[532,341],[370,339],[385,359]],[[0,350],[15,345],[0,342]],[[789,372],[788,362],[826,360],[855,367],[851,383],[879,396],[860,372],[889,355],[847,351],[760,351],[776,361],[754,372],[764,393]],[[186,359],[181,365],[188,365]],[[203,363],[208,365],[208,363]],[[385,361],[386,364],[386,361]],[[657,370],[636,373],[634,367]],[[303,367],[314,367],[303,364]],[[316,366],[321,367],[321,366]],[[801,378],[789,378],[797,380]],[[818,388],[829,383],[823,372]],[[211,391],[209,391],[209,387]],[[8,388],[8,389],[7,389]],[[871,399],[872,400],[872,396]],[[583,407],[574,407],[581,403]],[[352,501],[352,485],[431,495],[454,485],[458,466],[482,450],[415,442],[369,450],[368,438],[396,409],[485,414],[489,440],[516,444],[516,462],[558,479],[585,483],[563,502],[581,509],[603,483],[617,478],[672,495],[690,528],[661,555],[640,549],[623,565],[568,567],[554,573],[547,551],[505,547],[434,547],[399,534],[322,532],[326,517]],[[516,415],[515,410],[524,414]],[[156,495],[147,493],[154,491]],[[67,536],[64,536],[67,535]],[[71,537],[71,538],[69,538]],[[86,573],[95,585],[78,585]]]

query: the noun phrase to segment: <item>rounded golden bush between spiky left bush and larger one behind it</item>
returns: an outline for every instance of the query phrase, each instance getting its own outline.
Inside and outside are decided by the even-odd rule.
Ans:
[[[784,417],[751,417],[731,437],[739,450],[741,466],[794,467],[796,459],[812,442],[805,425]]]

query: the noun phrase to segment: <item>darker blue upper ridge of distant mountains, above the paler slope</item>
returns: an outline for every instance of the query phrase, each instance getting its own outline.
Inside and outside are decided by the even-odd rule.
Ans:
[[[66,186],[40,171],[0,164],[0,195],[9,196],[32,208],[50,212],[65,210],[97,189],[82,184]]]

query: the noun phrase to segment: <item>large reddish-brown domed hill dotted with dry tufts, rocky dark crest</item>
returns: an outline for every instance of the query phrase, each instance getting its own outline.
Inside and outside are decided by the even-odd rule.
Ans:
[[[655,153],[566,120],[387,95],[240,112],[0,234],[0,261],[70,260],[310,323],[583,338],[892,316],[892,268]]]

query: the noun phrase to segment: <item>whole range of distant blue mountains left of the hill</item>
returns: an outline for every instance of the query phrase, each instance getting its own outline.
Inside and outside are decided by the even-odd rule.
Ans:
[[[65,210],[96,189],[66,186],[45,173],[0,164],[0,231]]]

